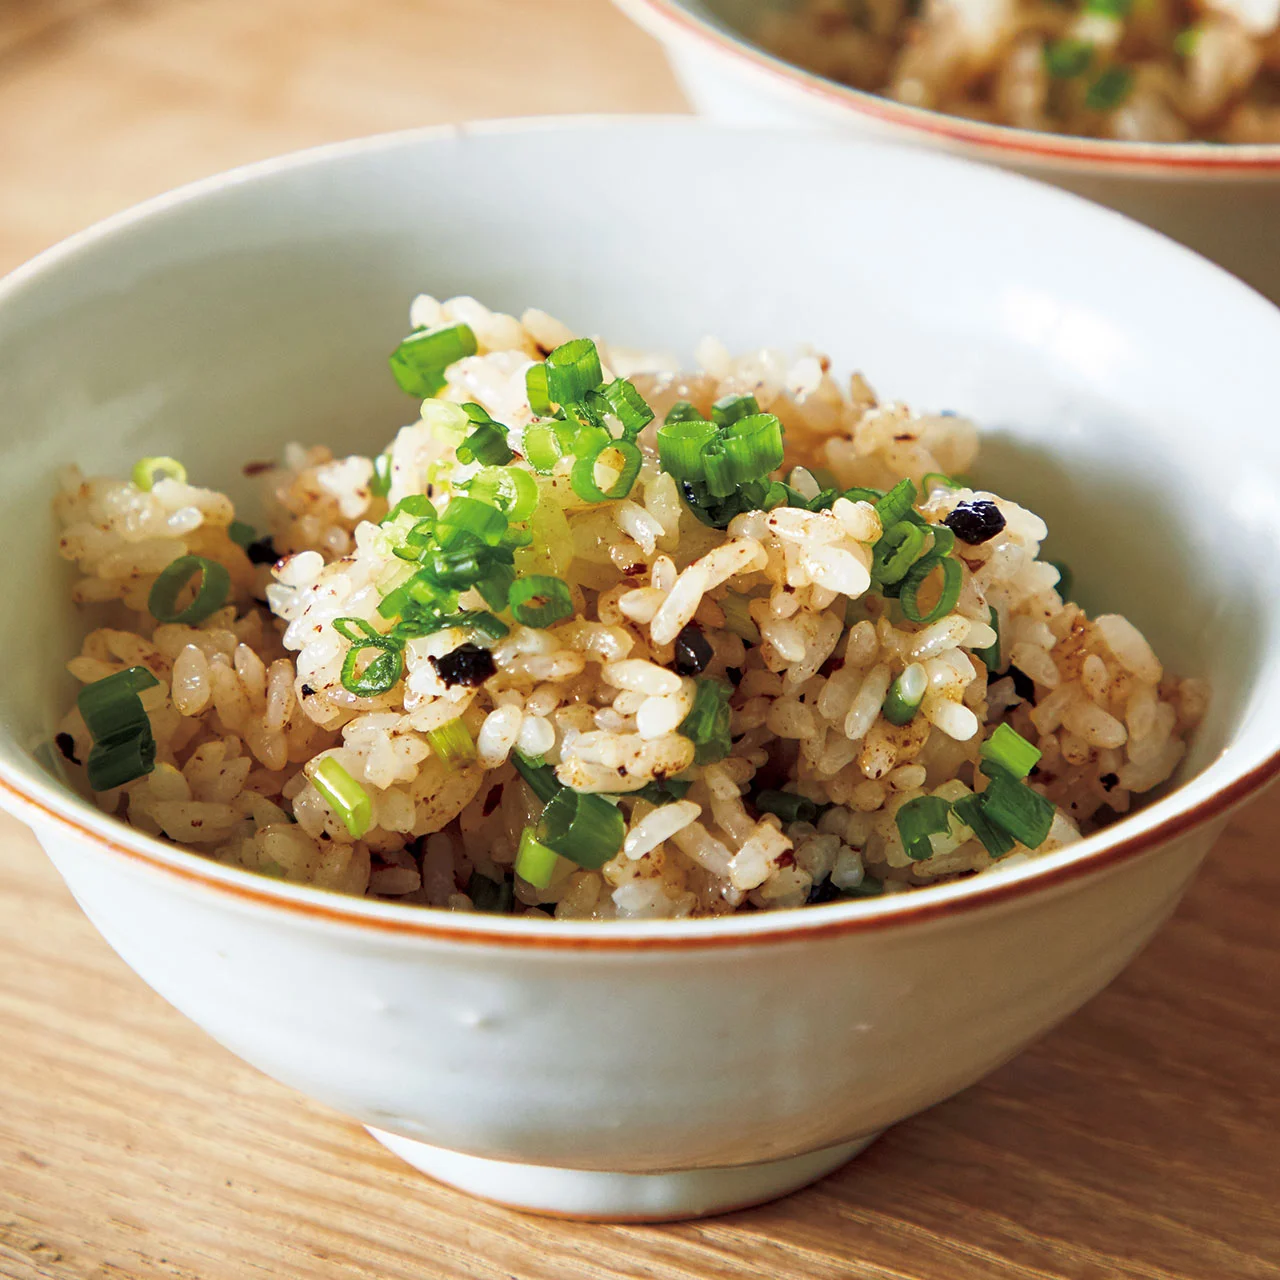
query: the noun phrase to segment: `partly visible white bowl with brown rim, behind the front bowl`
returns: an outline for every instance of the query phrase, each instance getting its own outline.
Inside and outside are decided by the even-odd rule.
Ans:
[[[614,3],[663,42],[713,119],[835,127],[1042,178],[1172,236],[1280,302],[1280,146],[1108,142],[965,120],[849,88],[751,42],[765,10],[796,0]]]

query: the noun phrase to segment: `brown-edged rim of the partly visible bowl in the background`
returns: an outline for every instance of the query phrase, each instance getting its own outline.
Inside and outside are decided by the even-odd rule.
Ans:
[[[960,143],[988,159],[1024,159],[1032,163],[1075,161],[1103,169],[1138,170],[1180,175],[1280,174],[1280,142],[1121,142],[1075,134],[1043,133],[1011,124],[987,124],[945,111],[910,106],[865,90],[841,84],[797,63],[788,61],[753,44],[745,35],[692,12],[684,0],[614,0],[652,35],[669,33],[701,45],[730,61],[745,63],[755,72],[856,115],[870,116],[904,131]]]

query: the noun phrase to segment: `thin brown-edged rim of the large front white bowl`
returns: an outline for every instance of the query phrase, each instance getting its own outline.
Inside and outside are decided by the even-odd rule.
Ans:
[[[776,129],[718,124],[687,115],[586,115],[428,125],[328,143],[201,178],[113,214],[0,278],[0,307],[5,305],[10,293],[28,287],[46,270],[69,264],[83,251],[93,251],[108,244],[118,233],[128,232],[154,218],[198,204],[207,197],[215,197],[229,188],[270,180],[274,175],[293,170],[320,169],[347,157],[394,152],[433,143],[458,143],[466,142],[470,137],[522,136],[534,132],[566,132],[576,136],[586,129],[607,129],[617,125],[653,127],[663,131],[675,128],[712,136],[754,133],[777,137],[778,134]],[[1261,301],[1226,271],[1181,246],[1066,192],[1053,191],[1016,174],[992,170],[955,156],[892,146],[883,141],[841,138],[838,134],[822,131],[810,131],[808,136],[842,148],[891,154],[911,164],[961,166],[974,174],[980,173],[980,180],[997,186],[1033,188],[1039,193],[1039,198],[1074,204],[1091,218],[1128,224],[1137,234],[1164,242],[1169,252],[1188,264],[1196,264],[1198,270],[1210,273],[1224,284],[1229,284],[1233,291]],[[1252,763],[1242,762],[1247,764],[1242,768],[1240,764],[1230,764],[1225,759],[1231,754],[1230,748],[1234,741],[1229,740],[1213,760],[1169,795],[1158,797],[1112,827],[1094,832],[1061,850],[1028,859],[1020,865],[883,897],[714,919],[532,920],[524,916],[504,918],[406,906],[393,901],[349,897],[311,886],[292,884],[243,868],[215,863],[183,846],[148,836],[115,817],[95,810],[87,800],[52,776],[41,776],[41,771],[37,771],[35,777],[29,777],[3,758],[0,758],[0,806],[18,818],[27,819],[37,832],[54,827],[73,841],[87,842],[95,849],[123,856],[145,873],[160,873],[175,878],[188,892],[212,891],[246,908],[282,910],[296,916],[298,923],[346,925],[384,936],[436,942],[554,951],[708,950],[788,943],[927,924],[979,909],[1016,902],[1041,890],[1069,886],[1084,877],[1102,873],[1151,852],[1171,840],[1189,836],[1219,819],[1225,819],[1233,809],[1280,777],[1280,746],[1270,753],[1248,753]],[[1204,780],[1215,771],[1226,776],[1207,788]]]

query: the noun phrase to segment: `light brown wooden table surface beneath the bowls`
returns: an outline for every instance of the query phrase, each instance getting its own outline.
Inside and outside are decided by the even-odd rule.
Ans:
[[[0,0],[0,270],[174,183],[475,116],[678,110],[605,0]],[[1280,1276],[1280,794],[1129,972],[818,1187],[707,1222],[541,1221],[242,1065],[0,819],[0,1275]]]

